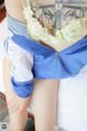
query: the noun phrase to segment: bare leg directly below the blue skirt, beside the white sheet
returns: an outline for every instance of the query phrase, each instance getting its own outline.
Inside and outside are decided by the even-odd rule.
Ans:
[[[33,95],[36,131],[54,131],[58,80],[36,80]]]

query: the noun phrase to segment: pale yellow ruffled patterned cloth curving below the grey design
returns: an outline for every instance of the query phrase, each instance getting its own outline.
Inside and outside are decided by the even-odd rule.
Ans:
[[[27,32],[35,39],[61,51],[87,35],[87,15],[80,19],[71,20],[55,34],[49,33],[40,22],[34,17],[32,7],[28,4],[24,8],[24,15],[27,21]]]

